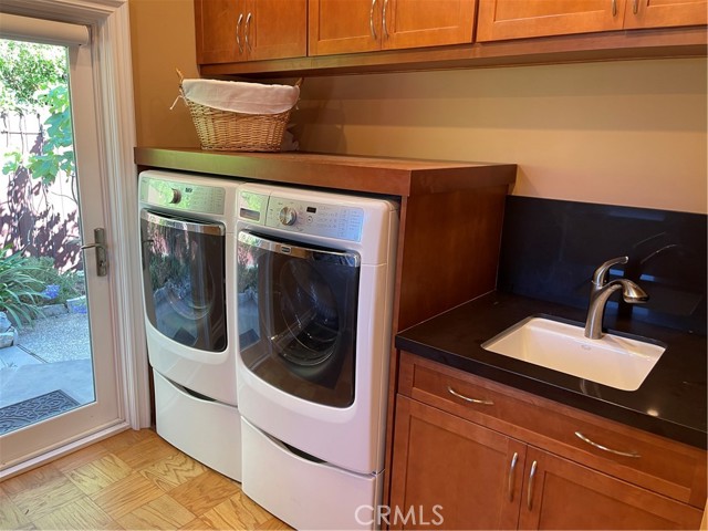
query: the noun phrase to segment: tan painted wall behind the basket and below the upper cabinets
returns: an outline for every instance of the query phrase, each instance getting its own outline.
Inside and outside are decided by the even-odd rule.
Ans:
[[[131,0],[138,143],[197,146],[191,0]],[[159,20],[160,23],[155,23]],[[301,148],[517,163],[513,194],[708,212],[706,60],[306,79]]]

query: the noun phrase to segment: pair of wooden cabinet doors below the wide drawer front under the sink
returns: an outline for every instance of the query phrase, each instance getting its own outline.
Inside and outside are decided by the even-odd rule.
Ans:
[[[406,367],[413,357],[402,357],[404,392],[413,379]],[[503,407],[502,399],[497,394],[494,406]],[[546,416],[554,423],[552,412]],[[686,503],[522,440],[512,426],[507,433],[491,429],[402,394],[395,418],[392,529],[698,529],[700,523],[705,490],[698,496],[702,502]],[[705,468],[705,452],[702,460]]]

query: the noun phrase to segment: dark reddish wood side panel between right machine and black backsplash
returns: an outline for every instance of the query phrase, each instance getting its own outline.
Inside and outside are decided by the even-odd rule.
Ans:
[[[493,290],[507,186],[409,197],[397,330]]]

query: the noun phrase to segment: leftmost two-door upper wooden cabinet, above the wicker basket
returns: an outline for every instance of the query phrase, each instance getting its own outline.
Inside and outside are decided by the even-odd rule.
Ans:
[[[306,0],[195,0],[197,62],[305,56]]]

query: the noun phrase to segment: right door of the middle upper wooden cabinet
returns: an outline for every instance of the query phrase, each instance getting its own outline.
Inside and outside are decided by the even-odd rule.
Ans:
[[[382,48],[471,43],[475,9],[475,0],[384,0]]]

